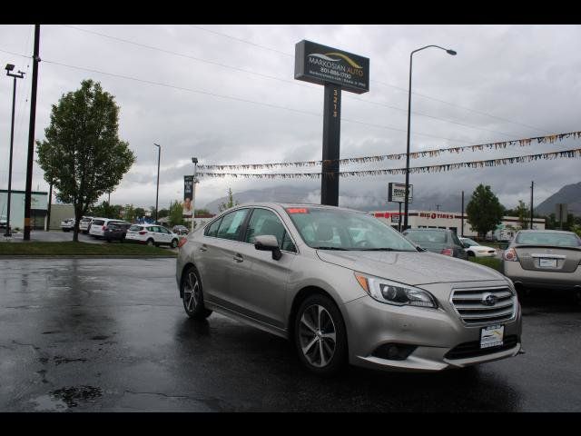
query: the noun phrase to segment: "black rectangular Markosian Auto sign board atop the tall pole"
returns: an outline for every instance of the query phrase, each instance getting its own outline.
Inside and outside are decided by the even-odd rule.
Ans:
[[[294,78],[313,84],[339,84],[345,91],[369,91],[369,58],[302,40],[295,46]]]

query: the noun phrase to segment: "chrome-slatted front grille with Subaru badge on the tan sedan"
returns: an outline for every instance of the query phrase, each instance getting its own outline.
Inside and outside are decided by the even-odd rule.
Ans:
[[[485,303],[487,296],[488,304]],[[507,286],[455,289],[450,301],[467,324],[508,321],[517,312],[517,297]]]

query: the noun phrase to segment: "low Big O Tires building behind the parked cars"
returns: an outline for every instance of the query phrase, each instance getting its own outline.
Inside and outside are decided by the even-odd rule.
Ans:
[[[391,225],[398,230],[399,220],[403,231],[403,214],[398,211],[374,211],[373,215],[379,220]],[[528,222],[528,220],[527,220]],[[466,237],[478,236],[475,230],[472,230],[468,222],[468,215],[464,214],[464,229],[462,229],[462,214],[458,212],[442,211],[409,211],[408,215],[409,228],[428,228],[428,229],[449,229]],[[491,240],[510,240],[521,229],[521,223],[517,216],[504,216],[502,222],[498,224],[494,232],[487,234],[487,239]],[[544,230],[545,218],[533,218],[533,229]]]

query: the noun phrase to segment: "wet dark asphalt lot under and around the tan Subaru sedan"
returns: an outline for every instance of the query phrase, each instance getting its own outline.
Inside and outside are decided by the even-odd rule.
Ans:
[[[476,369],[301,369],[290,342],[182,310],[174,259],[0,260],[0,411],[581,411],[581,308],[522,304],[525,354]]]

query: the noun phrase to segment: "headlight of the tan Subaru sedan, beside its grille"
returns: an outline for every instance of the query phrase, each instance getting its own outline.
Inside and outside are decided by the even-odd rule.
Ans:
[[[408,284],[391,282],[359,272],[354,272],[359,285],[378,302],[387,302],[396,306],[410,305],[436,308],[436,299],[427,291],[414,288]]]

